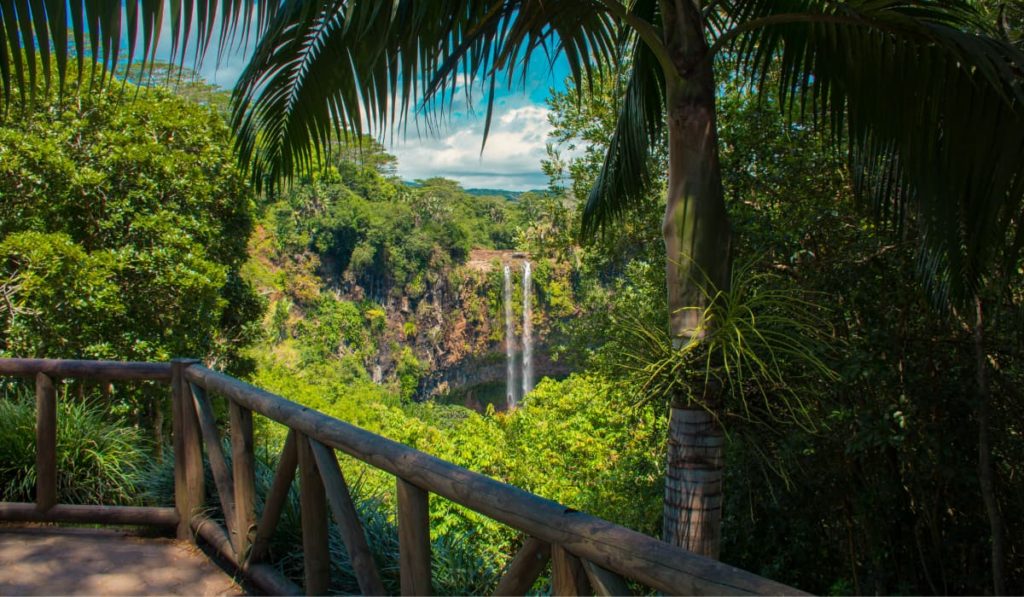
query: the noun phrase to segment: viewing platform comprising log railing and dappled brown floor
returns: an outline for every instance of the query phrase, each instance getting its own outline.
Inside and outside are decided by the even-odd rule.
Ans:
[[[625,595],[631,593],[630,583],[669,595],[800,593],[333,419],[195,360],[0,359],[0,376],[32,380],[37,406],[36,501],[0,503],[0,522],[148,526],[177,538],[172,542],[103,529],[59,531],[0,525],[3,594],[116,594],[122,590],[131,594],[178,594],[179,590],[183,594],[240,594],[239,585],[204,560],[197,545],[217,554],[245,580],[247,588],[274,595],[325,594],[331,582],[329,524],[337,524],[360,592],[386,594],[338,453],[395,477],[402,595],[432,593],[431,499],[450,500],[522,534],[522,548],[506,567],[495,591],[498,595],[523,595],[543,574],[550,578],[555,595]],[[56,387],[65,379],[168,384],[173,415],[173,508],[57,503]],[[214,418],[215,396],[226,400],[229,459]],[[254,416],[289,429],[272,484],[262,500],[257,500],[255,489]],[[223,524],[204,510],[204,460]],[[296,546],[302,554],[301,587],[268,559],[269,542],[296,476],[302,514],[301,548]],[[257,503],[263,505],[259,511]],[[129,552],[135,552],[133,559],[116,569],[122,566],[118,554]],[[81,566],[75,554],[83,558]],[[113,558],[113,567],[89,571],[86,563],[106,565],[99,555]]]

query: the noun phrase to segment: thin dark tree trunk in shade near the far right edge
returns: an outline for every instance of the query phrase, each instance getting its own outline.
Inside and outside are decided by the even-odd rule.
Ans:
[[[999,512],[999,504],[995,499],[995,471],[992,466],[992,446],[988,432],[991,407],[989,404],[987,366],[985,365],[983,305],[980,297],[974,298],[974,357],[978,391],[978,484],[981,485],[981,499],[985,503],[985,512],[988,514],[988,528],[992,542],[992,591],[995,595],[1006,595],[1007,546],[1004,537],[1002,514]]]

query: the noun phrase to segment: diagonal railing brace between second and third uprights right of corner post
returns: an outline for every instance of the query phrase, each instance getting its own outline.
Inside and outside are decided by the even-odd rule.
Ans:
[[[359,522],[352,496],[348,493],[345,477],[341,474],[341,467],[338,466],[338,458],[333,450],[315,439],[309,439],[309,446],[316,460],[324,486],[327,488],[328,503],[341,531],[341,539],[345,543],[345,550],[351,560],[359,591],[364,595],[383,595],[384,585],[381,584],[377,563],[374,562],[370,546],[367,545],[367,536],[362,531],[362,523]]]

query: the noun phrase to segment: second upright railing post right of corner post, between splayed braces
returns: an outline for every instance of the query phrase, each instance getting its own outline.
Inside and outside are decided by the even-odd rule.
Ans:
[[[331,584],[331,552],[328,546],[327,500],[324,482],[305,435],[297,434],[299,455],[299,503],[302,509],[302,560],[306,595],[324,595]],[[368,593],[368,595],[382,593]]]

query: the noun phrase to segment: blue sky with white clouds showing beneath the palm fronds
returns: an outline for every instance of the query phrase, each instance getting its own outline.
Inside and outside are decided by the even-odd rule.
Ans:
[[[165,30],[158,52],[161,59],[170,55],[170,31],[166,23]],[[210,55],[200,73],[207,81],[230,89],[251,51],[251,47],[239,48],[223,55],[219,63],[216,56]],[[478,89],[472,94],[475,111],[469,110],[464,94],[457,94],[452,118],[440,131],[433,134],[423,128],[418,131],[411,120],[408,134],[389,145],[389,151],[398,158],[399,176],[407,180],[443,176],[458,180],[466,188],[547,187],[548,180],[541,172],[551,129],[545,99],[551,88],[564,88],[567,75],[564,60],[551,67],[543,53],[537,52],[528,65],[525,85],[517,78],[514,89],[496,90],[493,123],[482,155],[480,141],[486,106],[485,95]]]

